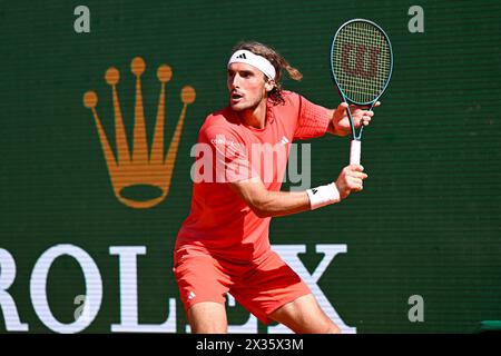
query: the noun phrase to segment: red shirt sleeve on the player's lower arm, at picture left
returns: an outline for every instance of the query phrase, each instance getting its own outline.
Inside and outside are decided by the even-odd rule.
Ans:
[[[215,182],[236,182],[258,176],[248,160],[245,142],[227,128],[205,127],[199,141],[210,148]]]

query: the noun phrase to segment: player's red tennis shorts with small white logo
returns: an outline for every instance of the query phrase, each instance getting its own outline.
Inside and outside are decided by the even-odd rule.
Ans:
[[[307,285],[274,251],[258,261],[233,264],[208,254],[183,249],[173,268],[185,312],[200,301],[225,304],[235,299],[265,325],[269,314],[283,305],[311,294]]]

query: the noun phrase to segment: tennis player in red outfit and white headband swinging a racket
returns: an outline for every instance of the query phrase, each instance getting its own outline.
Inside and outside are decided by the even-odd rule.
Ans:
[[[302,79],[272,48],[237,44],[227,63],[229,105],[200,128],[198,145],[206,149],[196,159],[205,164],[194,177],[173,268],[193,333],[227,332],[227,293],[265,325],[276,320],[295,333],[340,332],[308,286],[271,250],[269,221],[336,204],[361,191],[367,175],[352,165],[324,186],[281,191],[289,142],[351,132],[346,103],[330,110],[283,90],[283,70]],[[373,112],[355,107],[352,115],[360,127],[370,123]],[[255,152],[267,151],[255,148],[263,145],[285,147],[285,159],[261,167]]]

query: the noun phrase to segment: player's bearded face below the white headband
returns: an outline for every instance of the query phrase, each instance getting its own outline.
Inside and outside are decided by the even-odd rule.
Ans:
[[[235,111],[256,108],[266,100],[266,92],[273,89],[265,81],[263,72],[246,63],[232,63],[228,68],[227,85],[229,106]]]

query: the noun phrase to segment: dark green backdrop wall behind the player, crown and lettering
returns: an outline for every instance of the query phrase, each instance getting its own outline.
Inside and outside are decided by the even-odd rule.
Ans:
[[[89,33],[73,29],[79,4],[90,10]],[[414,4],[424,10],[421,33],[407,28]],[[395,66],[364,136],[362,162],[370,175],[364,191],[338,206],[274,219],[272,243],[305,245],[302,259],[310,271],[322,259],[316,245],[346,245],[318,286],[357,333],[471,333],[481,320],[501,319],[500,13],[498,1],[1,1],[0,249],[17,268],[7,291],[0,288],[0,300],[12,297],[29,332],[51,332],[33,307],[32,271],[49,248],[75,245],[92,257],[102,278],[102,304],[84,332],[109,333],[120,323],[119,260],[109,247],[145,246],[137,259],[138,322],[164,323],[168,298],[176,298],[175,324],[184,333],[170,271],[173,245],[189,211],[190,148],[207,113],[226,103],[232,47],[240,40],[272,44],[304,75],[301,82],[286,79],[287,89],[335,107],[331,36],[345,20],[367,18],[389,33]],[[187,109],[170,191],[149,209],[115,197],[92,115],[82,103],[86,91],[98,93],[99,117],[115,147],[104,75],[119,69],[131,144],[129,68],[137,56],[147,66],[141,80],[148,139],[158,66],[173,68],[167,147],[181,88],[189,85],[197,93]],[[334,180],[347,164],[348,139],[328,136],[311,144],[312,185]],[[3,260],[0,280],[12,273]],[[56,259],[47,281],[53,316],[72,323],[75,297],[84,294],[76,260]],[[424,322],[407,317],[412,295],[423,298]],[[8,332],[6,309],[3,303],[0,332]],[[248,314],[236,307],[228,317],[242,324]],[[266,328],[259,325],[258,332]]]

